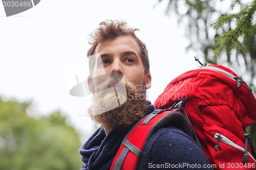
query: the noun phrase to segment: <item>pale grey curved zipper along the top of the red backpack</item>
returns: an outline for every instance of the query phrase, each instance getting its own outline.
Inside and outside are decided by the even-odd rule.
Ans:
[[[206,66],[206,67],[201,67],[200,69],[209,69],[209,70],[213,70],[216,72],[220,72],[221,74],[227,76],[228,78],[230,78],[231,80],[237,82],[237,87],[240,88],[243,83],[247,86],[248,90],[250,92],[252,92],[252,89],[238,76],[234,76],[232,75],[230,72],[227,72],[221,68],[217,68],[217,67],[212,67],[212,66]]]

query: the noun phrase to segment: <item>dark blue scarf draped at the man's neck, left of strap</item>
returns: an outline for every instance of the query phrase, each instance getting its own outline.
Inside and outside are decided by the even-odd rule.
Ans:
[[[150,101],[147,101],[147,104],[145,115],[155,110]],[[81,160],[84,162],[81,170],[110,169],[123,138],[131,128],[132,126],[122,131],[112,130],[108,135],[105,134],[103,128],[97,129],[79,149],[79,153],[82,155]]]

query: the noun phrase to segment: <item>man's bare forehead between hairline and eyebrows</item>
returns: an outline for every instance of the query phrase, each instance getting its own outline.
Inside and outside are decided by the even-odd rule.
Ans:
[[[138,56],[141,56],[139,44],[131,36],[118,36],[108,38],[100,42],[96,48],[95,53],[118,53],[122,51],[134,51]]]

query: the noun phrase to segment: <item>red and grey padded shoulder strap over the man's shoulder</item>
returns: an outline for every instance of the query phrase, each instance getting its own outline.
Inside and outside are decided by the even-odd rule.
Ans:
[[[110,169],[135,169],[146,141],[157,129],[165,125],[178,127],[194,138],[191,127],[179,111],[157,109],[142,118],[125,136]]]

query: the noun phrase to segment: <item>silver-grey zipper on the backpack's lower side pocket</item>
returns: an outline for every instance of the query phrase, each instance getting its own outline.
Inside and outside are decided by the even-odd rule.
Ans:
[[[221,141],[221,142],[226,143],[226,144],[230,145],[231,147],[236,148],[237,150],[245,153],[244,148],[242,148],[242,147],[240,147],[240,145],[232,142],[230,139],[228,139],[226,136],[223,136],[222,134],[215,133],[214,138],[217,139],[217,143],[215,145],[215,151],[219,151],[218,143],[219,143],[219,141]],[[247,152],[247,154],[254,160],[254,162],[256,162],[256,160],[253,158],[253,156],[249,152]]]

